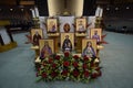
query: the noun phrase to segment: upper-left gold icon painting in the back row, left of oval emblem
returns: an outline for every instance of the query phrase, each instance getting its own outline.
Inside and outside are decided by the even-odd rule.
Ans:
[[[58,32],[58,20],[57,19],[48,19],[47,20],[47,29],[48,33],[55,33]]]

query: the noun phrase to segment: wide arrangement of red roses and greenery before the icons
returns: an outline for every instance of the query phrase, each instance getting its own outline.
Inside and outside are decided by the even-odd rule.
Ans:
[[[90,79],[101,76],[101,67],[95,59],[98,58],[72,56],[68,52],[64,55],[52,55],[41,62],[37,77],[44,81],[73,80],[89,82]]]

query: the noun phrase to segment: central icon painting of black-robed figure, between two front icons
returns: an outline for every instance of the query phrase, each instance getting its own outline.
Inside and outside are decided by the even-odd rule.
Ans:
[[[72,52],[74,48],[74,34],[61,33],[61,50],[62,52]]]

